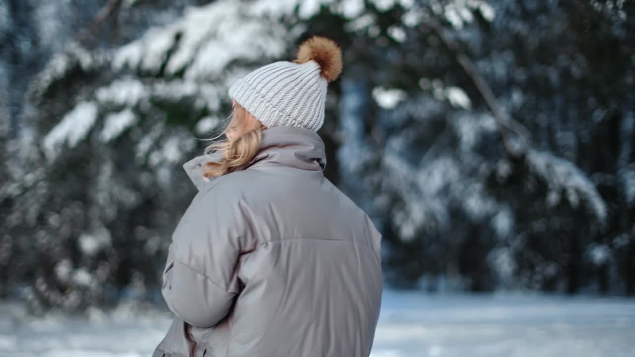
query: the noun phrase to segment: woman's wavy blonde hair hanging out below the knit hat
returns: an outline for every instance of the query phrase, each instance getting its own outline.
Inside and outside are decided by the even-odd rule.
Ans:
[[[232,113],[232,125],[242,125],[248,114],[241,105],[235,104]],[[210,179],[231,173],[241,168],[241,166],[247,165],[256,156],[262,142],[262,131],[267,128],[260,121],[256,121],[257,124],[253,128],[249,128],[238,137],[232,140],[227,138],[210,144],[205,148],[205,154],[220,150],[223,153],[223,157],[218,162],[205,163],[203,166],[204,177]],[[223,131],[225,135],[232,128],[232,125],[225,128]]]

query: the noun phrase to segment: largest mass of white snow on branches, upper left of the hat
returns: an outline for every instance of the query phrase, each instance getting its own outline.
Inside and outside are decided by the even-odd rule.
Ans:
[[[115,69],[137,69],[190,80],[216,78],[234,61],[257,62],[286,50],[286,29],[258,18],[242,1],[220,0],[189,8],[168,27],[150,29],[118,50]]]

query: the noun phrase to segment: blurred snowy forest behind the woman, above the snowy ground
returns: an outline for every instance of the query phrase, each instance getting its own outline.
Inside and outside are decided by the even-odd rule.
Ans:
[[[161,301],[182,164],[312,34],[389,285],[635,295],[634,1],[0,0],[0,298]]]

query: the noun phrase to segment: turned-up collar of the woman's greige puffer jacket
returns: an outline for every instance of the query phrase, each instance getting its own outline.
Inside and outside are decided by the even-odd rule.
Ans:
[[[222,152],[197,156],[183,168],[199,191],[210,182],[203,177],[203,165],[219,161]],[[293,126],[274,126],[262,131],[256,156],[242,170],[260,166],[284,166],[308,171],[323,171],[326,166],[324,142],[315,131]]]

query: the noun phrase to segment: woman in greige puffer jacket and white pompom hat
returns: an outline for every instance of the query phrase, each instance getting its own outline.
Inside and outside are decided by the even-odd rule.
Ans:
[[[337,44],[312,37],[230,88],[227,140],[184,165],[199,192],[173,234],[162,292],[176,317],[153,356],[370,354],[381,236],[324,178],[316,133],[341,71]]]

